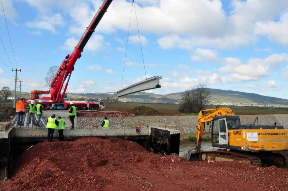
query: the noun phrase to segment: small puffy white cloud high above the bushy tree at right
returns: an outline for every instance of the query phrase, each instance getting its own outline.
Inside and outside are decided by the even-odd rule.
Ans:
[[[215,51],[203,48],[196,48],[193,55],[191,55],[191,59],[193,62],[218,61]]]

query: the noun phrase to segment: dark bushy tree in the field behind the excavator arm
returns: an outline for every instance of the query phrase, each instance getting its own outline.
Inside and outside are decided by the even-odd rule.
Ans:
[[[182,104],[179,107],[181,113],[196,113],[204,108],[211,92],[207,85],[199,84],[186,91],[182,97]]]

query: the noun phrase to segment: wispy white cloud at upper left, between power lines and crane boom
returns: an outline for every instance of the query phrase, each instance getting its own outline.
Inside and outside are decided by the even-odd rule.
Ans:
[[[39,16],[33,21],[29,21],[26,24],[30,28],[48,30],[51,33],[56,33],[55,26],[64,26],[64,21],[62,19],[61,13],[56,13],[52,16]]]

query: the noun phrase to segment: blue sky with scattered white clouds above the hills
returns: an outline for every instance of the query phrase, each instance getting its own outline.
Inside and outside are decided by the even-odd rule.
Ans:
[[[73,51],[100,0],[2,0],[23,90],[47,90],[44,77]],[[148,92],[210,88],[288,98],[288,1],[135,0]],[[72,72],[68,92],[110,92],[121,86],[131,1],[114,0]],[[14,89],[17,68],[2,10],[0,86]],[[132,13],[123,85],[144,79]]]

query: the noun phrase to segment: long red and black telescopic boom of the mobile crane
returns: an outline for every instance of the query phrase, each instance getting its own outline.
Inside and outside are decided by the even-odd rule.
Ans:
[[[99,7],[96,15],[94,16],[93,20],[91,21],[90,25],[86,28],[84,34],[82,35],[81,39],[79,40],[77,46],[75,46],[71,55],[67,55],[63,60],[62,64],[60,65],[58,71],[56,72],[51,84],[49,93],[51,94],[52,102],[60,103],[64,100],[64,95],[71,77],[71,73],[74,70],[74,65],[78,58],[81,57],[81,52],[85,45],[87,44],[88,40],[90,39],[91,35],[94,33],[95,28],[99,24],[100,20],[102,19],[103,15],[107,11],[107,8],[111,4],[113,0],[105,0],[102,5]],[[68,78],[62,95],[61,90],[65,80]]]

